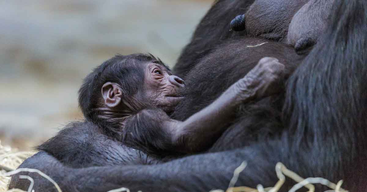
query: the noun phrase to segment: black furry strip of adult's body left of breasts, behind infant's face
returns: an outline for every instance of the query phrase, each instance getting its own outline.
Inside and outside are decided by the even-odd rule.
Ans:
[[[230,30],[230,21],[243,14],[254,0],[217,0],[197,26],[190,43],[182,50],[173,71],[179,77],[186,73],[212,48],[227,39],[246,35]]]

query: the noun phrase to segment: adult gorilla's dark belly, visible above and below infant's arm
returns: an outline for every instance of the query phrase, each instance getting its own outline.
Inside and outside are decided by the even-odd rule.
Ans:
[[[203,109],[244,77],[263,57],[279,59],[286,66],[286,75],[303,59],[303,56],[295,53],[294,48],[279,42],[250,37],[227,40],[205,55],[185,76],[185,100],[176,107],[172,117],[185,120]],[[275,130],[281,130],[279,115],[283,102],[278,98],[283,96],[275,95],[241,105],[235,123],[228,122],[229,129],[211,150],[220,151],[248,145],[249,142],[257,141],[260,133],[269,135]],[[269,122],[276,122],[277,126],[269,128],[274,126],[274,123]]]

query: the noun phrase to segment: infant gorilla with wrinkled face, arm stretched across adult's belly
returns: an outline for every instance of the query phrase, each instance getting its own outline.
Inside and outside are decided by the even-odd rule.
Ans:
[[[117,55],[88,75],[80,103],[88,119],[112,128],[115,137],[133,147],[200,152],[224,131],[238,104],[272,94],[270,85],[283,69],[275,59],[262,59],[211,105],[181,122],[167,113],[184,99],[179,95],[184,81],[152,55]]]

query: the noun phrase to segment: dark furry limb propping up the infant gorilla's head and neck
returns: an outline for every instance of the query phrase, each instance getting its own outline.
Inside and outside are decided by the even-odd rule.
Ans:
[[[37,149],[74,168],[155,162],[142,151],[125,146],[102,132],[91,122],[72,122]]]

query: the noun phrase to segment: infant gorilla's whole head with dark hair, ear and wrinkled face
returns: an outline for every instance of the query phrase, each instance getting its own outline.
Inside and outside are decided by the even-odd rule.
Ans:
[[[169,112],[177,104],[184,82],[151,54],[116,55],[97,66],[79,89],[84,117],[122,117],[154,106]],[[109,117],[108,117],[109,118]]]

